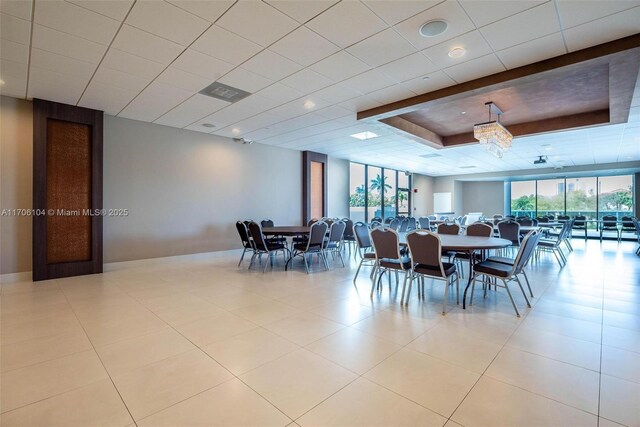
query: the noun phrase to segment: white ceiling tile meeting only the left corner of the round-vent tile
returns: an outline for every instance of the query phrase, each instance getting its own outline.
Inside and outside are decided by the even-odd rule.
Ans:
[[[306,24],[345,48],[387,28],[387,24],[359,1],[344,1]]]

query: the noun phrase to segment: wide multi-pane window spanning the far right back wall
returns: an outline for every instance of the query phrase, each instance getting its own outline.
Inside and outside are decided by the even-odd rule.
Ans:
[[[613,215],[621,219],[632,212],[631,175],[511,183],[511,214],[516,216],[584,215],[587,219],[602,219]],[[595,222],[588,225],[596,227]]]

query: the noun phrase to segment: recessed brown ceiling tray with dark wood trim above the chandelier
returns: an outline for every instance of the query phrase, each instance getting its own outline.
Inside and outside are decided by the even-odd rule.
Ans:
[[[636,34],[361,111],[358,120],[436,149],[477,143],[473,125],[488,121],[489,101],[514,137],[626,123],[639,68]]]

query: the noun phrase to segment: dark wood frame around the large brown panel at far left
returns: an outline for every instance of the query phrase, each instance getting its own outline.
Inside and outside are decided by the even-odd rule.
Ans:
[[[91,210],[102,210],[103,112],[42,99],[33,100],[33,209],[47,210],[47,122],[49,119],[91,127]],[[102,272],[102,216],[91,217],[91,259],[47,263],[47,216],[33,216],[33,280]]]

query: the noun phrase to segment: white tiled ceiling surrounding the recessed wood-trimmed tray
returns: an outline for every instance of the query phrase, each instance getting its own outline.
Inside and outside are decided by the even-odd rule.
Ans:
[[[547,167],[640,161],[638,84],[628,123],[516,138],[502,159],[477,146],[431,157],[419,141],[356,120],[639,33],[640,1],[2,0],[0,12],[6,96],[432,176],[531,169],[539,155]],[[419,36],[436,18],[447,31]],[[467,52],[450,58],[454,47]],[[252,95],[231,104],[198,93],[215,81]],[[365,131],[379,137],[350,136]]]

